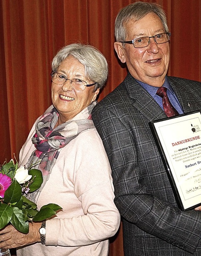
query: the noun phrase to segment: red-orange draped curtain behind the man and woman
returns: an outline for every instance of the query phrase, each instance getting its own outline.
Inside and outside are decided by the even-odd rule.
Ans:
[[[51,60],[64,45],[97,47],[109,64],[99,100],[118,86],[127,70],[114,51],[118,11],[135,0],[0,0],[0,163],[18,159],[35,119],[51,104]],[[146,0],[166,11],[171,31],[168,74],[201,80],[201,0]],[[110,256],[122,256],[122,228]]]

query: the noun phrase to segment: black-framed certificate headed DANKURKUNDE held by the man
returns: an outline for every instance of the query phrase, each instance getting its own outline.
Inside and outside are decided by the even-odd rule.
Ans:
[[[201,205],[201,112],[149,122],[178,207]]]

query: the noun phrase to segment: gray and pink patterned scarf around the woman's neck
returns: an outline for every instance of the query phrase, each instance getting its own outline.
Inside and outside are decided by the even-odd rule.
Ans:
[[[65,147],[71,140],[76,138],[80,132],[95,127],[91,112],[96,103],[95,101],[92,102],[79,114],[68,122],[58,125],[55,129],[54,126],[57,123],[59,114],[53,106],[50,106],[37,121],[35,125],[36,133],[32,138],[32,143],[36,150],[31,154],[27,168],[34,166],[34,168],[41,170],[43,183],[38,190],[26,196],[28,199],[35,203],[37,202],[62,147]]]

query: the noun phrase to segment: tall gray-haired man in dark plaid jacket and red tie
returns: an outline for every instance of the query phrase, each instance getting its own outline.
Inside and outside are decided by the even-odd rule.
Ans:
[[[115,50],[125,80],[94,109],[108,154],[125,256],[201,255],[201,213],[178,208],[151,120],[201,109],[201,84],[167,76],[170,32],[154,3],[133,3],[115,21]],[[164,109],[164,101],[171,109]]]

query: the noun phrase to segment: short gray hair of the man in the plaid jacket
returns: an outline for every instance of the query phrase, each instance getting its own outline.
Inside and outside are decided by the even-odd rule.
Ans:
[[[130,19],[135,19],[138,21],[142,19],[148,13],[155,13],[159,16],[165,32],[169,32],[166,14],[160,5],[156,3],[145,3],[145,2],[136,2],[127,5],[122,8],[117,14],[117,18],[115,20],[115,38],[117,42],[126,40],[126,25]],[[133,38],[130,38],[131,40]]]

